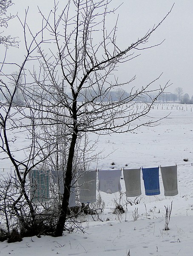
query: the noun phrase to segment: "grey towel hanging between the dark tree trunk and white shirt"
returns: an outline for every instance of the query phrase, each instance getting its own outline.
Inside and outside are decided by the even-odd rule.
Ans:
[[[96,185],[97,172],[96,171],[79,171],[79,188],[81,203],[94,203],[96,202]]]

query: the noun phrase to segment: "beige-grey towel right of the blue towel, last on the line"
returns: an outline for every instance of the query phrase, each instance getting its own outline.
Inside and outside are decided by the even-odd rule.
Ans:
[[[178,195],[177,166],[161,167],[165,196]]]

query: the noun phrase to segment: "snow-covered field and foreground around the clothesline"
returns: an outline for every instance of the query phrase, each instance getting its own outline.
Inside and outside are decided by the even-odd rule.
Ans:
[[[97,150],[104,149],[102,154],[107,157],[98,161],[97,169],[110,168],[112,162],[117,168],[128,165],[128,169],[177,165],[178,195],[164,196],[160,174],[160,195],[146,196],[141,180],[140,203],[131,205],[131,201],[135,198],[129,198],[131,204],[126,204],[124,180],[121,180],[123,192],[121,204],[126,210],[124,214],[112,214],[114,201],[119,202],[119,193],[109,195],[100,192],[102,200],[105,201],[105,210],[100,215],[102,221],[93,221],[88,215],[82,216],[84,233],[64,232],[59,238],[50,236],[24,238],[23,241],[13,244],[4,241],[0,243],[0,255],[192,255],[193,111],[190,105],[183,110],[182,108],[171,110],[170,105],[168,109],[155,107],[151,110],[150,116],[159,119],[169,113],[170,115],[155,127],[141,127],[132,133],[99,137]],[[91,139],[96,140],[94,135],[91,135]],[[184,159],[188,161],[184,162]],[[0,172],[3,175],[3,169],[0,169]],[[165,231],[165,206],[170,207],[172,201],[170,230]],[[136,210],[139,216],[134,221]]]

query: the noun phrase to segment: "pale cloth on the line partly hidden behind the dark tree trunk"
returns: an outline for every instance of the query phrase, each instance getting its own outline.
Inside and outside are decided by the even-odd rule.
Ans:
[[[57,184],[60,190],[60,194],[64,194],[64,172],[63,171],[58,171],[56,172],[55,170],[52,171],[52,180],[54,184]],[[74,184],[74,180],[72,180],[71,185]],[[71,191],[70,191],[70,198],[69,198],[69,203],[68,207],[75,207],[76,206],[76,191],[74,185],[71,186]]]

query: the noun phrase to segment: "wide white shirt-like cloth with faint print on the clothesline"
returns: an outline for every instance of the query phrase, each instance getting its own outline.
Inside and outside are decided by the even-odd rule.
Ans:
[[[98,172],[98,191],[108,194],[121,192],[121,170],[101,170]]]

